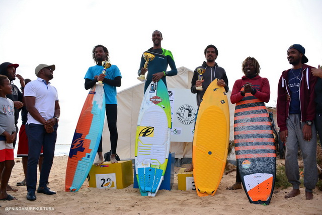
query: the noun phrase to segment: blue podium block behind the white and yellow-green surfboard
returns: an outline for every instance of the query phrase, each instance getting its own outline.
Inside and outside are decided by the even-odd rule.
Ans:
[[[170,153],[165,176],[159,187],[159,190],[171,190],[173,186],[174,177],[175,177],[175,153]],[[134,169],[133,188],[139,188],[139,185],[136,179],[135,169]]]

